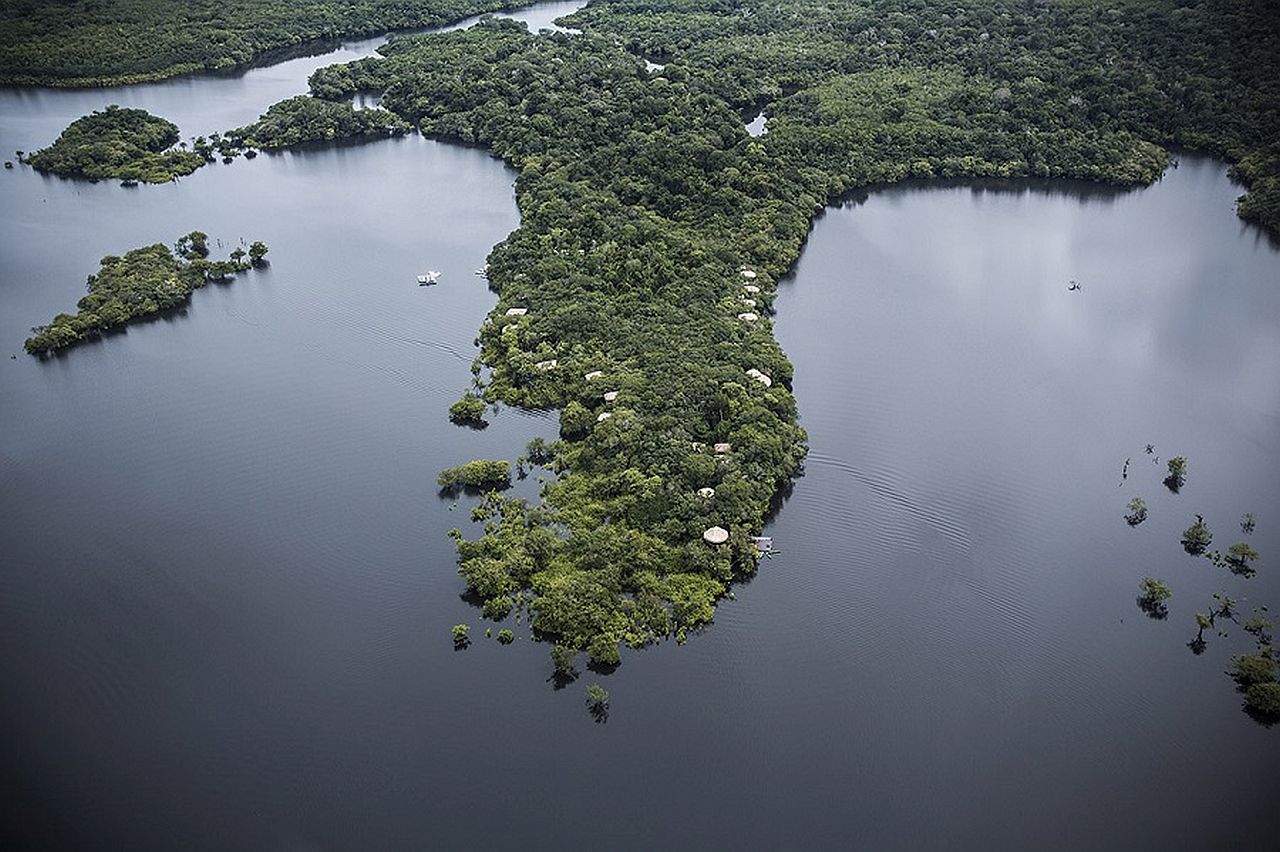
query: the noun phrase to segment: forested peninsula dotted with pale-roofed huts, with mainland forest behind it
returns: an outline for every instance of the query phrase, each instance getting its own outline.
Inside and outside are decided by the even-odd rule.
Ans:
[[[756,567],[805,454],[768,316],[823,205],[906,177],[1137,185],[1188,146],[1238,160],[1242,215],[1280,225],[1280,36],[1253,4],[598,0],[571,20],[585,35],[401,38],[311,87],[380,92],[520,170],[477,391],[561,409],[557,477],[539,505],[486,496],[460,573],[486,614],[526,608],[600,664],[682,638]]]

